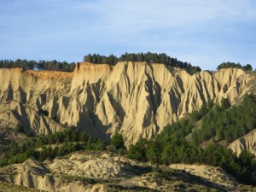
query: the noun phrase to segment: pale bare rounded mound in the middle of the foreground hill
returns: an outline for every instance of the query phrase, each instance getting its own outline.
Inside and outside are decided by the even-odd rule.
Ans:
[[[84,157],[86,159],[84,160]],[[131,166],[125,166],[106,154],[98,156],[75,153],[69,158],[53,160],[48,164],[53,172],[62,172],[73,177],[126,178],[134,174],[129,172]]]

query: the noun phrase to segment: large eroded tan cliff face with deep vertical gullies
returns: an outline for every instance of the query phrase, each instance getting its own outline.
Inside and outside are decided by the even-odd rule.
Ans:
[[[190,75],[146,62],[79,63],[73,73],[0,69],[0,122],[44,134],[65,125],[92,137],[121,132],[129,145],[154,137],[204,102],[236,102],[252,80],[237,68]]]

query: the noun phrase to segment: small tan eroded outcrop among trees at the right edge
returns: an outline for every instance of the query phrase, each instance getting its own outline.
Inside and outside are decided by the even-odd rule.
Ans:
[[[243,150],[248,150],[256,155],[256,130],[250,131],[245,136],[236,139],[230,143],[229,148],[237,155],[241,154]]]

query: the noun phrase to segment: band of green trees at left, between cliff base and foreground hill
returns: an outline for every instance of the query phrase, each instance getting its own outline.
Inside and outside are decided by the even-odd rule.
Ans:
[[[103,141],[89,137],[85,131],[68,128],[55,134],[30,137],[22,145],[11,141],[9,149],[4,152],[4,158],[0,160],[0,166],[23,163],[29,158],[40,161],[54,159],[79,150],[102,151],[109,146],[112,147],[112,152],[117,152],[115,149],[125,149],[122,135],[117,133],[110,141]]]

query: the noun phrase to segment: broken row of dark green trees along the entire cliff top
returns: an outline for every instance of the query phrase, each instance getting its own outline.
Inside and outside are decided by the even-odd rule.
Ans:
[[[179,67],[186,70],[190,74],[201,72],[201,67],[192,66],[188,62],[178,61],[177,58],[172,58],[165,53],[125,53],[119,57],[111,54],[109,56],[93,54],[84,55],[84,61],[93,64],[109,64],[116,65],[119,61],[146,61],[148,63],[163,63],[171,67]],[[73,72],[75,68],[75,63],[67,61],[27,61],[17,59],[12,60],[0,60],[0,68],[13,68],[22,67],[25,69],[36,69],[36,70],[49,70],[49,71],[63,71],[63,72]],[[218,65],[217,69],[238,67],[244,71],[252,71],[253,67],[250,64],[241,66],[240,63],[234,62],[223,62]]]

